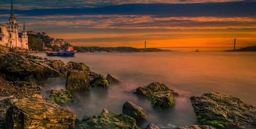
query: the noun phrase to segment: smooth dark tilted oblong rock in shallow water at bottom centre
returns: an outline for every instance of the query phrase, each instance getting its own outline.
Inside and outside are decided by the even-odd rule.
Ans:
[[[142,109],[142,107],[131,101],[126,101],[123,104],[122,113],[134,118],[137,122],[147,121],[147,113]]]

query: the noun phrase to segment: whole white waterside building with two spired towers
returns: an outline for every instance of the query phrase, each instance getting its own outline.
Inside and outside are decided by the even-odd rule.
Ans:
[[[25,23],[23,25],[22,37],[19,37],[18,24],[14,16],[12,3],[9,22],[6,25],[0,24],[0,45],[10,48],[28,49],[28,35]]]

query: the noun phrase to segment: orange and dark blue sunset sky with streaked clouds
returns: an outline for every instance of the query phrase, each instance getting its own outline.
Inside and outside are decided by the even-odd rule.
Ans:
[[[0,0],[0,24],[10,1]],[[256,1],[13,0],[22,29],[75,46],[143,48],[256,45]]]

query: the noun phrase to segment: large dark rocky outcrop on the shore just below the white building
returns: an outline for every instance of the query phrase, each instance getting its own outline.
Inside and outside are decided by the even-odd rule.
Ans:
[[[0,70],[8,79],[24,80],[29,76],[36,78],[59,77],[59,71],[49,66],[49,62],[40,57],[9,53],[0,57]]]

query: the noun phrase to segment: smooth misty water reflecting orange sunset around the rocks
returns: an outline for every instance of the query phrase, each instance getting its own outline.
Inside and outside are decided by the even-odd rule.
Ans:
[[[34,54],[46,57],[45,54]],[[98,115],[102,109],[122,113],[122,104],[130,100],[148,112],[150,121],[160,126],[197,124],[189,97],[208,92],[236,96],[256,105],[256,53],[169,52],[169,53],[76,53],[75,57],[48,57],[84,62],[92,71],[120,79],[125,88],[93,89],[73,93],[77,104],[63,105],[78,118]],[[50,79],[46,89],[65,89],[65,78]],[[156,111],[150,100],[132,94],[132,90],[153,81],[163,82],[178,92],[176,105]]]

